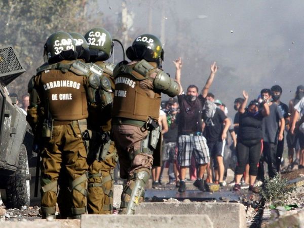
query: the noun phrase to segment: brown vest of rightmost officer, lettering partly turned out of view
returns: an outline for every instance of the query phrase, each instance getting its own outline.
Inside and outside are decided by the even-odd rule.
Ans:
[[[151,63],[154,64],[154,63]],[[115,92],[112,108],[113,117],[147,121],[149,118],[158,121],[161,93],[154,90],[153,78],[141,75],[134,70],[133,65],[120,65],[115,70]],[[141,83],[150,84],[150,89],[144,89]]]

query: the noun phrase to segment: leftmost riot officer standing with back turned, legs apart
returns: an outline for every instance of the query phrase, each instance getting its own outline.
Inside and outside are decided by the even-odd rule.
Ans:
[[[30,80],[27,121],[42,136],[41,210],[43,217],[55,217],[58,177],[61,167],[69,176],[72,218],[80,218],[87,206],[88,78],[79,73],[73,37],[63,31],[49,36],[45,44],[47,62]]]

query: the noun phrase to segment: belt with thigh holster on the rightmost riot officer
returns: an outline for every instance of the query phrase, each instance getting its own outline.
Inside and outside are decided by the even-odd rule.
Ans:
[[[131,159],[138,154],[149,154],[153,155],[154,150],[158,147],[158,142],[160,139],[160,135],[162,129],[159,123],[153,119],[149,119],[148,121],[138,121],[127,118],[113,118],[113,125],[133,125],[136,127],[143,128],[148,131],[147,137],[140,142],[140,148],[134,151],[134,154],[131,155]]]

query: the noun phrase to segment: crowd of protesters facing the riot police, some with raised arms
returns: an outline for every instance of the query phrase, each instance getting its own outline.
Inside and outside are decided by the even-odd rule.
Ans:
[[[181,77],[181,58],[174,61],[176,80]],[[248,93],[235,99],[234,121],[227,117],[227,107],[209,88],[217,66],[211,65],[211,74],[201,93],[195,85],[163,103],[167,115],[168,131],[164,134],[163,167],[167,166],[169,184],[176,184],[179,192],[185,192],[186,169],[189,179],[201,191],[207,183],[226,185],[227,168],[235,172],[233,190],[249,188],[258,193],[257,180],[264,181],[264,165],[273,178],[281,169],[285,132],[289,166],[304,168],[304,87],[296,88],[289,105],[280,101],[282,88],[274,85],[262,89],[257,97],[249,100]],[[303,129],[303,130],[302,130]],[[227,133],[230,140],[227,140]],[[228,143],[229,142],[229,143]],[[296,159],[294,160],[294,150]],[[162,169],[163,170],[163,169]],[[204,180],[204,173],[206,178]],[[153,187],[161,183],[155,179]]]

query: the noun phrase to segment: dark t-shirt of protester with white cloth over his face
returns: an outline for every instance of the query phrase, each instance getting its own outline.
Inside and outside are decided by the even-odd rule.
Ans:
[[[226,118],[225,113],[219,108],[216,108],[212,118],[206,116],[206,110],[203,111],[203,119],[206,124],[204,136],[206,137],[207,142],[222,141],[221,135],[224,128],[223,121]]]

